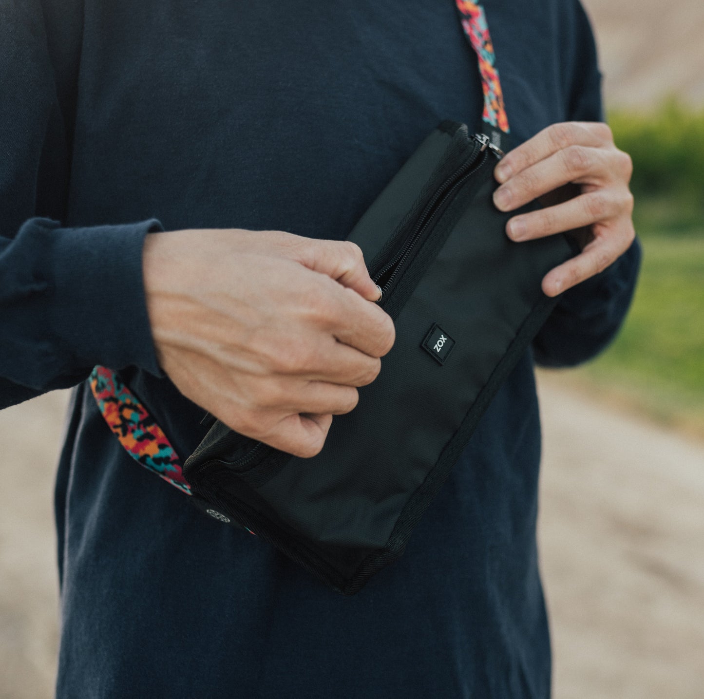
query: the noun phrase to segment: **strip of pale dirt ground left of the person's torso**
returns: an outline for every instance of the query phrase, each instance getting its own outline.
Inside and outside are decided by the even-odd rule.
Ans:
[[[67,398],[56,391],[0,412],[0,699],[54,695],[52,491]]]

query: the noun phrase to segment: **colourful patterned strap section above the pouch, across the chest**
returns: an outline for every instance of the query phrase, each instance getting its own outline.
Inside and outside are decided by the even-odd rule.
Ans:
[[[479,58],[479,74],[482,76],[482,91],[484,92],[484,113],[482,119],[491,126],[508,134],[508,117],[503,104],[501,82],[498,79],[494,44],[491,42],[489,25],[481,4],[470,0],[455,0],[460,11],[460,23],[469,39],[472,49]]]

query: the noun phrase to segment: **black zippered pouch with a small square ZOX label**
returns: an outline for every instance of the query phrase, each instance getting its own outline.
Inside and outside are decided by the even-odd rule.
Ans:
[[[508,239],[515,213],[492,201],[498,157],[484,134],[442,122],[348,236],[371,260],[396,343],[320,454],[296,458],[215,421],[185,462],[199,508],[346,595],[401,556],[557,303],[542,277],[577,252],[562,234]]]

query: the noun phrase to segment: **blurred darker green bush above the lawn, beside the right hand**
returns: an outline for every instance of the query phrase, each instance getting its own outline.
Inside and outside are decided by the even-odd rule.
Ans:
[[[704,221],[704,109],[669,99],[653,112],[609,115],[617,146],[633,158],[640,235],[696,232]]]

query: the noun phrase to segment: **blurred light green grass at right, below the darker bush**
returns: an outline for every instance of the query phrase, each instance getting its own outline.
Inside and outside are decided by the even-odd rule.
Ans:
[[[704,227],[646,237],[622,332],[577,374],[659,422],[704,437]]]

